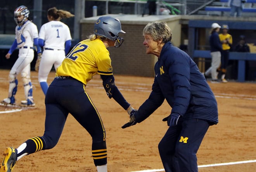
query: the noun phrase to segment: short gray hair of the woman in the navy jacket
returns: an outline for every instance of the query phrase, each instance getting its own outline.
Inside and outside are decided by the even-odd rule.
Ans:
[[[143,36],[148,34],[152,36],[154,41],[163,39],[163,43],[171,41],[171,29],[166,22],[152,22],[147,24],[143,29]]]

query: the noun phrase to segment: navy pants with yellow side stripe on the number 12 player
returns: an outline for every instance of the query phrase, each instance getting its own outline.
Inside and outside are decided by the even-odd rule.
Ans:
[[[70,113],[92,136],[95,165],[107,163],[106,131],[83,83],[71,77],[56,77],[47,90],[45,107],[45,149],[57,144]]]

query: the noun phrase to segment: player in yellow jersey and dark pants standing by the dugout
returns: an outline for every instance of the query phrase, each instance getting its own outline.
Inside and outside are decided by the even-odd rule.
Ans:
[[[228,34],[228,25],[223,24],[222,26],[222,33],[219,34],[220,42],[222,43],[222,51],[221,51],[221,69],[219,70],[221,72],[221,81],[223,83],[227,83],[227,80],[225,79],[226,73],[227,73],[227,67],[228,67],[228,60],[229,60],[229,51],[232,46],[233,40],[232,36]]]

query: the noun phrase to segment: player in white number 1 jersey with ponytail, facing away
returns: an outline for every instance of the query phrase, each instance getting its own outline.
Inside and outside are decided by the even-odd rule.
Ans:
[[[48,89],[47,78],[52,65],[56,70],[71,47],[72,38],[69,27],[60,20],[73,16],[68,11],[52,7],[47,11],[49,22],[43,24],[40,29],[38,43],[43,47],[43,53],[42,58],[36,60],[35,70],[38,71],[38,80],[45,95]]]

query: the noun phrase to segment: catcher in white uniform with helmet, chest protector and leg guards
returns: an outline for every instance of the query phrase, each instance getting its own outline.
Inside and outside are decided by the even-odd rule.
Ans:
[[[32,96],[33,88],[30,80],[30,63],[34,58],[33,44],[36,46],[38,56],[40,57],[42,54],[41,48],[38,45],[37,27],[28,18],[28,16],[29,10],[24,5],[21,5],[14,10],[14,20],[17,24],[15,28],[16,37],[5,57],[9,59],[10,55],[16,48],[19,48],[19,57],[10,70],[8,97],[1,101],[3,104],[14,105],[16,103],[14,97],[16,95],[18,85],[17,75],[21,73],[21,78],[24,85],[25,100],[21,101],[20,106],[35,106]]]

